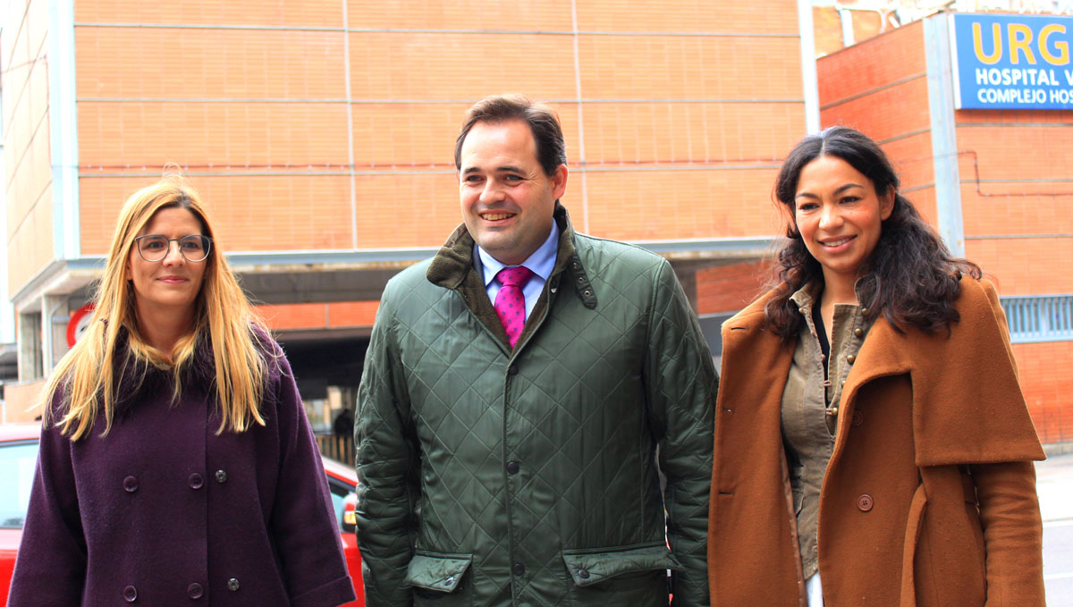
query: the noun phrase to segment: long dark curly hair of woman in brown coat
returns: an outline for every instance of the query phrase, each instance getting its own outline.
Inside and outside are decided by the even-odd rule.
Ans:
[[[764,307],[768,326],[785,341],[796,338],[805,319],[790,296],[810,281],[823,281],[820,262],[805,248],[793,217],[802,169],[824,156],[839,158],[868,177],[877,194],[892,189],[895,194],[891,217],[883,221],[876,250],[854,286],[866,317],[871,321],[882,313],[899,332],[905,332],[906,325],[928,332],[949,329],[960,320],[954,300],[960,293],[961,275],[979,279],[980,267],[951,255],[913,205],[898,194],[898,176],[879,145],[847,127],[831,127],[805,137],[779,169],[775,204],[788,211],[790,240],[776,253],[775,297]]]

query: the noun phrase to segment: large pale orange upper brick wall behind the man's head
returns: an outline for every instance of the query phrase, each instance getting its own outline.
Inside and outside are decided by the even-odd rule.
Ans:
[[[226,251],[440,245],[462,113],[504,91],[559,112],[580,230],[763,236],[805,127],[789,0],[173,4],[75,2],[85,254],[168,162]]]

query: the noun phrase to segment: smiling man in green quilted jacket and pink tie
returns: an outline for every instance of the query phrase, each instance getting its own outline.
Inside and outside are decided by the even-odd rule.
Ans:
[[[464,224],[384,291],[355,427],[369,607],[708,605],[711,355],[665,260],[574,232],[564,148],[523,97],[471,107]]]

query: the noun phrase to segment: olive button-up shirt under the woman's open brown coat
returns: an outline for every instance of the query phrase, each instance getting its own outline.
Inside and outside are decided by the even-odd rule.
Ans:
[[[846,376],[871,326],[859,306],[837,304],[831,330],[831,360],[824,360],[817,332],[820,328],[812,321],[813,306],[820,304],[818,291],[818,284],[807,284],[791,296],[805,317],[805,325],[782,391],[782,441],[806,579],[819,568],[820,489],[835,446],[838,402]]]

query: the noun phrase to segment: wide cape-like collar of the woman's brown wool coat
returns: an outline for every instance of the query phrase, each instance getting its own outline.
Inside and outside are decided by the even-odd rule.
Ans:
[[[771,298],[774,291],[723,324],[719,400],[750,403],[764,424],[778,428],[794,343],[782,343],[767,328],[764,305]],[[958,311],[961,320],[949,334],[913,326],[899,331],[882,314],[876,319],[842,388],[833,463],[844,448],[861,389],[901,374],[912,382],[917,465],[1042,458],[1031,423],[1024,419],[1027,410],[994,287],[962,279]],[[979,428],[966,431],[973,420]]]

